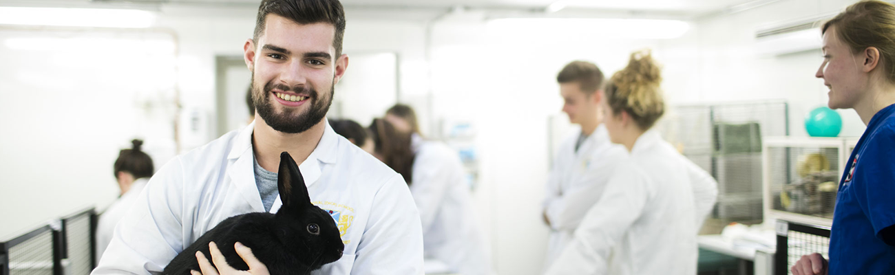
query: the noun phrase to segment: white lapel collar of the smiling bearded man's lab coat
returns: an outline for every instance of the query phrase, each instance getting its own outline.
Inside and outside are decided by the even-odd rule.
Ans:
[[[308,158],[299,164],[298,168],[302,171],[304,184],[311,187],[320,179],[323,170],[321,164],[332,164],[338,160],[338,138],[336,131],[329,126],[329,121],[324,119],[323,136],[320,142],[314,148],[314,151],[308,155]],[[243,199],[249,204],[253,212],[264,212],[264,204],[261,202],[258,186],[255,184],[254,172],[254,150],[251,150],[251,133],[254,130],[255,122],[251,122],[249,126],[243,128],[234,140],[231,146],[230,154],[227,159],[233,161],[233,166],[227,171],[227,174],[234,180],[235,186],[240,189]],[[270,212],[277,212],[283,205],[282,200],[277,196]]]

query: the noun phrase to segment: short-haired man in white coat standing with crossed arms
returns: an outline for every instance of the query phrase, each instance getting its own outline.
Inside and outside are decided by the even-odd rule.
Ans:
[[[550,227],[544,266],[572,239],[584,213],[600,198],[616,164],[627,156],[625,148],[609,141],[602,125],[603,73],[584,61],[568,63],[557,75],[562,111],[580,126],[559,146],[547,180],[543,219]]]

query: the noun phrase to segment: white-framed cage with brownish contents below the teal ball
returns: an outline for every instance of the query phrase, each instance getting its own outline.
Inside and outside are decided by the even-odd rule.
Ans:
[[[772,210],[832,219],[841,176],[840,146],[768,146]]]

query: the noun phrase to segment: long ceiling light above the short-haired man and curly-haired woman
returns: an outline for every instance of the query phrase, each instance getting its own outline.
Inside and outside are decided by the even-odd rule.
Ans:
[[[500,34],[521,36],[550,33],[671,39],[683,36],[690,29],[690,24],[686,21],[652,19],[507,18],[489,21],[488,28]]]

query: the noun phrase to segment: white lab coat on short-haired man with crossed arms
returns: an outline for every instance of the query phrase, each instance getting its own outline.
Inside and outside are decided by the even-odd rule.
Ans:
[[[584,219],[584,213],[600,198],[618,162],[627,158],[625,147],[609,140],[609,132],[603,124],[594,129],[575,152],[575,142],[580,135],[579,130],[559,146],[547,181],[543,210],[550,220],[550,241],[545,268],[572,240],[575,228]]]

